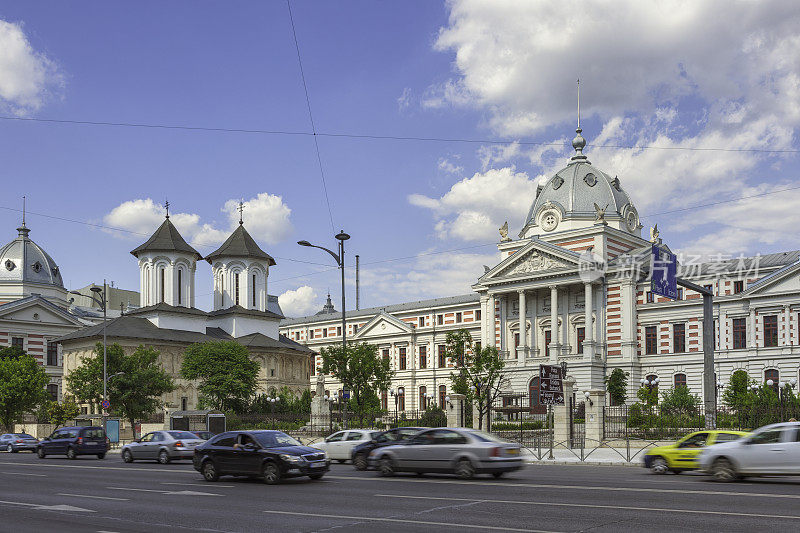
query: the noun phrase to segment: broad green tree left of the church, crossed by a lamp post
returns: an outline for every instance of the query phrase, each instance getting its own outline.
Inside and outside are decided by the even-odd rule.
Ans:
[[[161,397],[175,390],[172,377],[158,363],[159,352],[146,346],[126,355],[119,344],[106,347],[108,401],[117,416],[135,427],[141,420],[163,407]],[[117,375],[115,375],[117,374]],[[99,404],[103,399],[103,344],[95,345],[94,354],[67,376],[69,390],[85,403]]]

